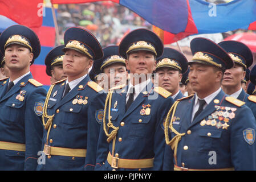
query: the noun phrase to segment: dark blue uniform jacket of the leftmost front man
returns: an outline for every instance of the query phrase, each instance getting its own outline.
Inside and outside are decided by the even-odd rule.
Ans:
[[[35,170],[41,150],[42,108],[46,90],[23,77],[5,94],[9,78],[0,82],[0,141],[26,144],[26,152],[0,150],[0,170]],[[23,90],[24,100],[16,97]]]

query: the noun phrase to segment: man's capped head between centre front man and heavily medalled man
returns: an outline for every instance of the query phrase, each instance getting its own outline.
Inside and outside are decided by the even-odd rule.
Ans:
[[[164,48],[164,53],[157,59],[156,73],[159,75],[159,86],[172,93],[174,101],[183,97],[180,81],[187,69],[188,60],[175,49]]]

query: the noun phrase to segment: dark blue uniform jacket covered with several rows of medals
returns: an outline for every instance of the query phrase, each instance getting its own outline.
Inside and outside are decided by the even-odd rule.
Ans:
[[[225,100],[227,95],[221,90],[209,105],[191,122],[194,96],[187,97],[177,105],[173,121],[173,128],[178,133],[185,133],[181,137],[177,147],[177,166],[190,169],[220,169],[234,167],[235,170],[256,169],[256,145],[255,145],[255,118],[251,110],[246,106],[236,106]],[[215,104],[214,100],[220,101]],[[224,106],[216,109],[215,106]],[[227,122],[227,129],[217,128],[217,125],[206,125],[209,115],[218,111],[225,111],[226,107],[235,108],[235,116]],[[186,113],[184,114],[184,111]],[[230,110],[229,110],[230,113]],[[180,118],[180,119],[177,119]],[[217,123],[220,121],[216,119]],[[222,120],[221,123],[224,123]],[[203,125],[203,126],[202,126]],[[170,131],[170,130],[169,130]],[[247,134],[247,133],[250,133]],[[169,132],[169,138],[175,134]],[[170,146],[166,145],[170,148]],[[165,150],[166,151],[166,150]],[[216,164],[209,163],[216,152]],[[173,170],[173,150],[165,153],[164,170]]]

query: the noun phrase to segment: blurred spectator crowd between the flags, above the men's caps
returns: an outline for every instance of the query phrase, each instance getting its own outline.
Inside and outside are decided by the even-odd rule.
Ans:
[[[62,42],[67,28],[80,26],[90,30],[102,47],[118,44],[125,33],[136,28],[152,29],[152,24],[133,11],[109,1],[59,5],[57,20]]]

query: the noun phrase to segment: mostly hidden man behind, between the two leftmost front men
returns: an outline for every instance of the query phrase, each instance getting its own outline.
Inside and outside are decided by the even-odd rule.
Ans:
[[[51,77],[51,84],[63,80],[67,77],[63,71],[64,46],[57,46],[47,54],[44,64],[46,65],[46,74]]]

